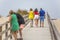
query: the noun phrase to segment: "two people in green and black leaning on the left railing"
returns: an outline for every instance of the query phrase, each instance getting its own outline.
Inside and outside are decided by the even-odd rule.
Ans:
[[[13,12],[13,10],[10,10],[9,14],[9,22],[11,23],[11,33],[13,37],[15,38],[15,40],[18,40],[17,33],[19,31],[20,39],[23,40],[22,29],[24,28],[25,24],[24,18],[19,13]]]

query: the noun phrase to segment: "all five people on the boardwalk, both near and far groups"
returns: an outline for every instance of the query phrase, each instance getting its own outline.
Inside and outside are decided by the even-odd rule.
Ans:
[[[22,37],[22,30],[24,28],[24,18],[19,14],[14,12],[13,10],[9,11],[9,22],[11,23],[11,33],[14,36],[15,40],[17,40],[17,33],[20,33],[20,39],[23,40]],[[30,8],[29,20],[31,21],[31,27],[33,27],[33,19],[35,20],[35,26],[38,27],[38,20],[40,19],[40,26],[44,27],[44,18],[45,18],[45,11],[40,8],[40,11],[38,12],[38,9],[36,8],[34,11],[32,8]]]

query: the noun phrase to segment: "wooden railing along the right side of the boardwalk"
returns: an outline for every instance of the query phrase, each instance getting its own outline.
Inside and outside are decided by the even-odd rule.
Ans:
[[[51,32],[51,38],[52,38],[52,40],[60,40],[60,34],[57,31],[56,26],[52,22],[49,14],[47,14],[47,19],[48,19],[48,23],[49,23],[49,26],[50,26],[50,32]]]

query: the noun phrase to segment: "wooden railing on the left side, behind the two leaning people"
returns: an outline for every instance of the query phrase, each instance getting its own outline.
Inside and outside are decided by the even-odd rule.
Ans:
[[[28,17],[28,15],[23,16],[23,18],[25,20],[25,26],[29,23],[29,19],[27,17]],[[5,28],[4,31],[2,30],[2,27]],[[2,39],[3,34],[5,34],[5,37],[4,37],[5,39]],[[10,26],[10,22],[7,21],[0,25],[0,40],[8,40],[8,38],[11,39],[11,26]]]

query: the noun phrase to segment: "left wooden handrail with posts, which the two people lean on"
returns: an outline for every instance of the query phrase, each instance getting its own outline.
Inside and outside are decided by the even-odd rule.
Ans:
[[[25,20],[25,26],[29,23],[29,21],[28,21],[29,19],[28,19],[27,17],[28,17],[28,15],[24,15],[24,16],[23,16],[23,18],[24,18],[24,20]],[[3,24],[0,25],[0,40],[2,40],[2,35],[3,35],[3,34],[6,35],[5,40],[8,40],[8,38],[11,37],[11,33],[8,35],[8,31],[11,29],[11,27],[8,28],[8,23],[9,23],[9,22],[7,21],[7,22],[5,22],[5,23],[3,23]],[[9,24],[10,24],[10,23],[9,23]],[[6,26],[5,26],[6,30],[4,30],[4,31],[2,31],[3,25],[6,25]],[[10,32],[11,32],[11,30],[10,30]]]

